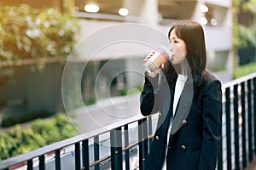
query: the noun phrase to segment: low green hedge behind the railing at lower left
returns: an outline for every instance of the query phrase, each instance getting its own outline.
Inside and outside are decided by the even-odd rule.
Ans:
[[[77,131],[64,113],[48,119],[37,119],[28,128],[22,129],[16,125],[0,134],[0,161],[74,135],[77,135]]]

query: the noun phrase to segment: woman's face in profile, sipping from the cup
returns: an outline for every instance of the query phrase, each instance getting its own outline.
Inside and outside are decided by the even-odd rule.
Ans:
[[[172,51],[172,65],[180,65],[183,63],[187,55],[187,48],[185,42],[177,37],[175,29],[170,34],[171,51]]]

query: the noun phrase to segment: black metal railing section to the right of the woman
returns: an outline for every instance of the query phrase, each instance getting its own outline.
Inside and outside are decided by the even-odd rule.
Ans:
[[[244,169],[256,154],[256,74],[225,83],[223,92],[223,151],[218,169]]]

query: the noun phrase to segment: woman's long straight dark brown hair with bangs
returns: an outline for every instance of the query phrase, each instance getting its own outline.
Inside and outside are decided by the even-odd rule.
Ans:
[[[177,37],[186,43],[187,63],[193,79],[198,78],[207,66],[207,50],[202,26],[193,20],[183,20],[171,27],[168,37],[170,37],[173,30]],[[163,72],[167,80],[177,77],[177,73],[170,62],[166,63]]]

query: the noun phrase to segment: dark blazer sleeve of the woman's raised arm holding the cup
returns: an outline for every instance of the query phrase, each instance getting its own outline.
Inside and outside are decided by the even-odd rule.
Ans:
[[[159,82],[159,74],[152,78],[149,77],[147,72],[145,72],[145,82],[143,85],[143,92],[140,96],[140,110],[143,116],[148,116],[154,111],[157,112],[158,104],[155,101],[157,99],[157,88]]]

